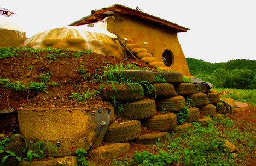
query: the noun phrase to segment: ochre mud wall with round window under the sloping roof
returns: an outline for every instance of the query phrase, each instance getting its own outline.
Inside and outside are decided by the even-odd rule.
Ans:
[[[152,56],[159,62],[163,62],[163,52],[170,50],[173,53],[171,70],[182,72],[183,75],[190,75],[176,32],[123,15],[108,17],[106,22],[109,32],[120,38],[128,38],[135,41],[136,44],[152,53]]]

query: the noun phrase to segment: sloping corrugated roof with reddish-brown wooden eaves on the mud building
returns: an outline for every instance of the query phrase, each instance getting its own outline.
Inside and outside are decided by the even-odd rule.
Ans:
[[[189,30],[188,28],[179,26],[176,23],[167,21],[165,19],[161,19],[160,17],[156,17],[153,15],[144,13],[140,10],[132,9],[120,4],[114,4],[109,7],[92,10],[90,15],[85,16],[82,19],[73,22],[68,26],[80,26],[84,24],[96,23],[98,21],[105,19],[106,17],[113,16],[115,14],[126,15],[129,17],[132,17],[133,19],[154,24],[155,26],[174,30],[174,32],[187,32],[187,30]]]

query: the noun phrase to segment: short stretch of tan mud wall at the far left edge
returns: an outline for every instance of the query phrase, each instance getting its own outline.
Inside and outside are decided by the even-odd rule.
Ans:
[[[0,29],[0,47],[19,46],[26,39],[26,33],[17,30]]]

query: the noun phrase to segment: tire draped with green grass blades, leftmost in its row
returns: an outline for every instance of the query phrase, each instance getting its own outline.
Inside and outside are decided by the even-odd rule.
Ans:
[[[113,87],[114,85],[114,87]],[[100,87],[100,96],[105,101],[138,101],[143,99],[144,90],[139,85],[128,85],[118,83],[102,84]]]

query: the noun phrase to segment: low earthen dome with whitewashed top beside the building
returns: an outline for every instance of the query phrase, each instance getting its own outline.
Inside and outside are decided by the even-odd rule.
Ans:
[[[29,48],[66,48],[68,50],[92,50],[95,53],[123,58],[123,47],[108,35],[89,32],[75,27],[61,27],[37,33],[25,40]]]

